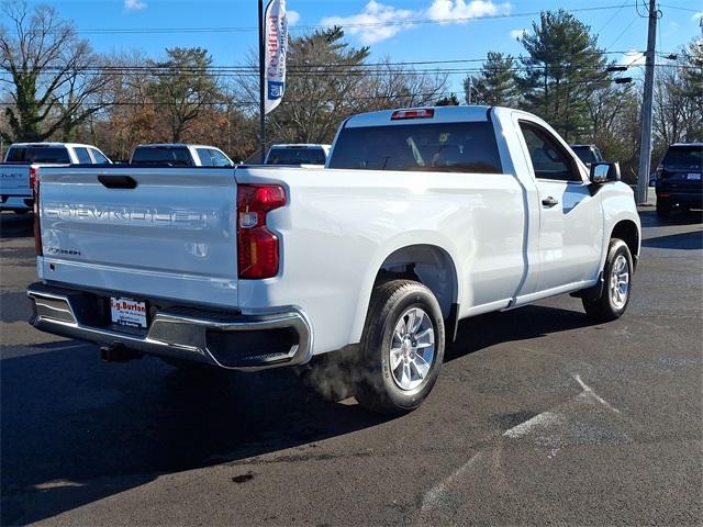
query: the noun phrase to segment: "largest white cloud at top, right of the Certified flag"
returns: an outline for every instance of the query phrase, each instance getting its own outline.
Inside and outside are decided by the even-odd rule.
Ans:
[[[399,9],[378,0],[369,0],[364,10],[350,16],[326,16],[322,25],[342,25],[344,31],[358,35],[362,44],[373,44],[395,36],[414,24],[403,24],[409,20],[433,20],[443,24],[466,23],[477,16],[506,14],[509,2],[494,3],[491,0],[432,0],[420,10]]]

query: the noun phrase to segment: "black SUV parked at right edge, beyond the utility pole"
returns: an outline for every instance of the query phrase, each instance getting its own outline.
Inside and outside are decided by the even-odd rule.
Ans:
[[[703,143],[676,143],[657,168],[657,214],[703,208]]]

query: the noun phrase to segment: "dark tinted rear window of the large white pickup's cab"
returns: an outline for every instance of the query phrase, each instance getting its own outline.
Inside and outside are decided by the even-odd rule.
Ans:
[[[489,122],[343,128],[330,168],[503,171],[493,125]]]

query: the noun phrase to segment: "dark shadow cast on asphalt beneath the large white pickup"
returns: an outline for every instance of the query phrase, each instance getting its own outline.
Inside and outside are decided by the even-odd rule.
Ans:
[[[588,324],[582,313],[544,306],[482,315],[461,323],[447,361]],[[49,518],[164,473],[284,449],[304,461],[315,441],[388,421],[320,401],[290,370],[107,365],[96,347],[71,340],[10,346],[2,357],[2,525]]]

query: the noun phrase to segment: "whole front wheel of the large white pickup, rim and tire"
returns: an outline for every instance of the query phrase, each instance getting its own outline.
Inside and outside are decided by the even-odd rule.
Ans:
[[[610,322],[620,318],[629,303],[633,280],[633,256],[622,239],[611,239],[603,269],[603,288],[598,298],[582,299],[589,318]]]

